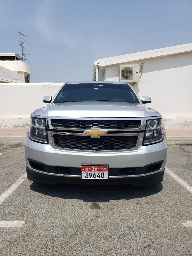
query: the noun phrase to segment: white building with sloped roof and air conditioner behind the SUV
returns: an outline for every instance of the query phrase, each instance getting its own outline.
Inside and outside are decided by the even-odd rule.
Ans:
[[[192,127],[192,43],[98,59],[93,80],[129,82],[167,127]]]

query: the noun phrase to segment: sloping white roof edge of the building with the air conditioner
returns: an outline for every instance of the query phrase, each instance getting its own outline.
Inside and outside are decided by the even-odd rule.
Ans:
[[[131,61],[139,61],[142,59],[164,57],[168,55],[186,53],[189,51],[192,51],[192,43],[98,59],[94,62],[93,66],[93,80],[95,80],[95,66],[99,66],[99,73],[103,73],[106,66],[122,64]]]

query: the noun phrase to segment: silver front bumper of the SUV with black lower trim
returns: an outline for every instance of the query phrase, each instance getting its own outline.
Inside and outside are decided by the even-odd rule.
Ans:
[[[27,177],[41,183],[81,183],[81,184],[133,184],[150,185],[162,181],[167,156],[166,138],[159,143],[140,146],[136,150],[119,152],[75,152],[55,149],[50,144],[31,141],[28,137],[25,143]],[[29,159],[41,162],[47,166],[80,168],[81,165],[109,165],[108,180],[82,180],[81,175],[49,173],[31,167]],[[110,169],[139,168],[151,163],[162,162],[158,170],[149,173],[110,175]]]

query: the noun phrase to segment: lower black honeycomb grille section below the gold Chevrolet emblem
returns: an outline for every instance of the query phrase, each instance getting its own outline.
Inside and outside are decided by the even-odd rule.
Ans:
[[[89,136],[73,136],[54,134],[56,147],[80,150],[121,150],[136,147],[138,136],[106,136],[91,138]]]

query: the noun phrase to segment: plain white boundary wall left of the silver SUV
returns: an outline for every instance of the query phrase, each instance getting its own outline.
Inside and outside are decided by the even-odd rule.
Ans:
[[[63,83],[0,83],[0,128],[26,127],[30,114],[47,104]]]

